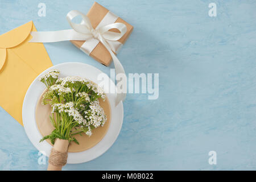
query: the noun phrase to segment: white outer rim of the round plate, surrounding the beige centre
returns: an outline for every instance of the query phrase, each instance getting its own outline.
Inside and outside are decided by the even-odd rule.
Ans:
[[[96,84],[100,83],[100,81],[97,80],[97,76],[102,73],[99,69],[84,63],[57,64],[42,72],[38,77],[35,78],[30,85],[30,88],[28,88],[22,107],[24,129],[32,144],[34,144],[39,151],[46,152],[47,156],[49,156],[52,146],[46,141],[39,143],[42,135],[40,134],[38,126],[36,125],[35,111],[39,97],[43,93],[44,89],[46,89],[46,86],[40,82],[38,78],[51,69],[58,69],[60,71],[59,77],[80,76],[92,80]],[[114,82],[110,80],[109,77],[108,79],[110,86],[114,86]],[[105,90],[106,96],[109,98],[109,104],[111,107],[111,121],[108,132],[106,133],[105,137],[94,147],[82,152],[69,152],[67,159],[68,164],[84,163],[97,158],[98,156],[104,154],[104,152],[106,152],[112,146],[119,135],[123,123],[123,103],[120,102],[117,106],[115,106],[115,98],[117,95],[106,92],[106,88],[103,89]]]

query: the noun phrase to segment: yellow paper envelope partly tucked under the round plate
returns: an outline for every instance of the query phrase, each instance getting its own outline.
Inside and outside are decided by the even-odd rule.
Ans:
[[[43,43],[28,43],[34,23],[0,35],[0,106],[23,126],[22,104],[31,82],[52,66]]]

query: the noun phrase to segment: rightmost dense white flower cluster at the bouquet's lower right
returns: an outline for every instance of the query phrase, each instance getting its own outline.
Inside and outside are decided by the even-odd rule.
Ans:
[[[90,103],[90,109],[86,110],[85,119],[89,121],[89,125],[93,125],[94,127],[104,126],[107,118],[104,113],[104,110],[100,106],[100,102],[98,100]]]

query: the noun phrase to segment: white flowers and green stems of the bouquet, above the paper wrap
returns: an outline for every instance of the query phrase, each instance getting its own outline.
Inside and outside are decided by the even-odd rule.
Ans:
[[[105,93],[94,82],[81,77],[58,78],[59,71],[51,70],[39,80],[47,86],[42,104],[51,105],[50,120],[55,129],[43,137],[55,143],[55,139],[64,139],[77,144],[75,135],[92,135],[92,130],[104,126],[107,118],[100,106],[99,98],[105,100]]]

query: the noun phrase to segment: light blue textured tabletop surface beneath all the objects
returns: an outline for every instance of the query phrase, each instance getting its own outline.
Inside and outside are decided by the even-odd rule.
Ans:
[[[46,17],[38,4],[46,3]],[[208,15],[209,3],[217,16]],[[126,73],[159,73],[159,98],[129,94],[114,145],[68,169],[256,169],[256,1],[98,1],[134,26],[119,52]],[[2,1],[0,34],[33,20],[69,28],[69,10],[93,1]],[[109,73],[69,42],[45,44],[53,64],[81,61]],[[113,68],[113,64],[110,66]],[[1,85],[1,84],[0,84]],[[22,126],[0,107],[0,169],[44,170]],[[217,152],[209,165],[208,152]]]

